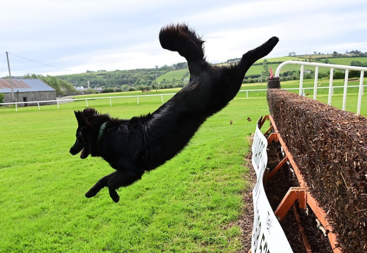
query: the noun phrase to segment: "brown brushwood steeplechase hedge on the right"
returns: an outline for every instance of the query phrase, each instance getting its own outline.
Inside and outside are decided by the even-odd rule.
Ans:
[[[367,252],[367,118],[279,89],[275,124],[344,253]]]

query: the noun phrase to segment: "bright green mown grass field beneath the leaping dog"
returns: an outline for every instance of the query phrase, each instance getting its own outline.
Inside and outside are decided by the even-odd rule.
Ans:
[[[295,81],[282,83],[282,87],[295,86]],[[259,87],[252,84],[242,89]],[[341,106],[340,93],[333,97],[336,106]],[[348,110],[355,112],[356,97],[353,91],[348,95]],[[326,101],[327,95],[321,93],[318,98]],[[136,98],[112,101],[112,107],[108,99],[88,103],[122,118],[153,112],[161,105],[160,97],[140,97],[139,105]],[[77,126],[73,110],[85,105],[78,101],[62,104],[60,110],[52,105],[18,112],[0,107],[1,253],[229,253],[241,249],[241,231],[234,224],[246,205],[241,195],[248,187],[244,157],[256,119],[269,113],[265,92],[253,92],[250,99],[240,92],[206,121],[181,154],[136,184],[121,188],[118,204],[106,189],[92,199],[84,197],[113,169],[99,158],[80,160],[69,154]],[[364,98],[362,115],[366,114]]]

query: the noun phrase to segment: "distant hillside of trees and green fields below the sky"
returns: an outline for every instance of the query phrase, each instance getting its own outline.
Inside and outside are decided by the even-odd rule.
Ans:
[[[230,59],[225,63],[216,64],[216,66],[236,64],[239,60],[240,58]],[[275,73],[275,69],[279,64],[288,60],[305,62],[311,60],[312,62],[366,67],[367,53],[360,51],[351,51],[348,54],[334,52],[333,54],[316,53],[312,55],[296,55],[296,53],[289,53],[289,56],[261,59],[255,62],[249,69],[243,83],[267,82],[270,76],[270,68]],[[299,66],[287,65],[281,69],[280,77],[282,80],[297,80],[299,79],[299,71]],[[304,71],[304,79],[314,78],[314,67],[305,66]],[[328,71],[329,69],[319,68],[319,77],[329,76]],[[156,66],[154,69],[87,70],[86,73],[71,75],[45,77],[32,74],[23,76],[23,78],[40,78],[44,80],[56,89],[57,95],[180,88],[187,84],[189,77],[190,74],[187,63],[185,62],[173,64],[172,66]],[[359,77],[359,72],[350,71],[349,77]],[[341,70],[335,69],[334,79],[342,78],[344,78],[344,73]]]

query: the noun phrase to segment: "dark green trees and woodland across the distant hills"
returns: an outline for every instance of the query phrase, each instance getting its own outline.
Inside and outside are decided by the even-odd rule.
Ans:
[[[353,50],[348,52],[355,57],[366,55],[366,53],[362,53],[358,50]],[[341,54],[334,52],[334,56],[341,57]],[[342,56],[343,57],[343,56]],[[346,56],[344,56],[346,57]],[[327,58],[327,57],[325,57]],[[330,57],[328,57],[330,58]],[[236,63],[241,58],[229,59],[227,63]],[[318,57],[318,60],[321,58]],[[304,59],[307,61],[307,59]],[[323,62],[327,63],[328,59],[324,59]],[[268,66],[270,62],[264,59],[263,62],[257,63],[254,65],[262,65],[260,74],[247,75],[243,80],[243,83],[260,83],[267,82],[270,77],[270,68]],[[271,62],[274,63],[282,63],[282,62]],[[367,67],[367,62],[362,63],[356,60],[352,60],[350,62],[351,66],[362,66]],[[71,75],[58,75],[58,76],[43,76],[37,74],[26,74],[21,78],[38,78],[43,80],[45,83],[50,85],[56,90],[56,94],[58,96],[63,95],[74,95],[79,93],[97,93],[97,92],[125,92],[125,91],[138,91],[138,90],[155,90],[155,89],[167,89],[174,87],[184,87],[187,83],[185,79],[189,78],[189,72],[181,78],[181,79],[172,79],[166,80],[163,79],[159,83],[157,83],[157,77],[167,73],[171,70],[177,69],[187,69],[187,63],[177,63],[171,66],[164,65],[162,67],[155,66],[154,69],[131,69],[131,70],[115,70],[115,71],[106,71],[106,70],[97,70],[91,71],[87,70],[86,73],[80,74],[71,74]],[[328,77],[329,72],[320,73],[319,77]],[[349,71],[349,77],[359,77],[359,71]],[[297,80],[299,79],[300,72],[299,71],[286,71],[280,74],[281,80]],[[365,73],[367,76],[367,73]],[[308,71],[303,74],[304,79],[314,78],[314,71]],[[334,79],[344,78],[344,72],[335,71]],[[87,89],[88,82],[90,85],[90,89]],[[85,89],[80,90],[76,89],[77,87],[83,86]],[[0,93],[0,101],[1,101],[1,93]]]

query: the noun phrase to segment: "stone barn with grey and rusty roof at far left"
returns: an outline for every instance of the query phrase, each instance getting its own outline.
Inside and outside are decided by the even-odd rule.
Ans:
[[[40,79],[11,79],[11,81],[15,102],[56,100],[56,90]],[[0,78],[0,92],[5,94],[4,103],[13,102],[10,79]],[[42,104],[55,104],[55,102]]]

